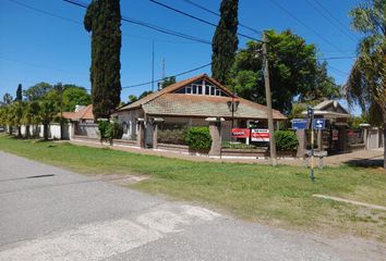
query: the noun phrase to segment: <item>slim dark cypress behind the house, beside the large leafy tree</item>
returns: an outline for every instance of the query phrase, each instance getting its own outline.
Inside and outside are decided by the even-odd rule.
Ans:
[[[226,84],[238,50],[239,0],[222,0],[220,21],[212,41],[212,76]]]

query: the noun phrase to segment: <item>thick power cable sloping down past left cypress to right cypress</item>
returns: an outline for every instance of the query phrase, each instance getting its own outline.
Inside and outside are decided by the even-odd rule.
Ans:
[[[77,2],[77,1],[73,1],[73,0],[63,0],[63,1],[68,2],[68,3],[71,3],[71,4],[74,4],[74,5],[77,5],[77,7],[81,7],[81,8],[84,8],[84,9],[87,9],[87,4],[86,3],[81,3],[81,2]],[[121,16],[121,20],[124,21],[124,22],[131,23],[131,24],[140,25],[140,26],[153,29],[153,30],[157,30],[157,32],[166,34],[166,35],[171,35],[171,36],[184,38],[184,39],[196,41],[196,42],[201,42],[201,44],[212,45],[212,42],[208,41],[208,40],[201,39],[201,38],[194,37],[194,36],[190,36],[190,35],[186,35],[186,34],[183,34],[183,33],[180,33],[180,32],[162,28],[160,26],[153,25],[150,23],[146,23],[146,22],[141,21],[141,20],[134,20],[134,18],[130,18],[130,17],[126,17],[126,16]]]

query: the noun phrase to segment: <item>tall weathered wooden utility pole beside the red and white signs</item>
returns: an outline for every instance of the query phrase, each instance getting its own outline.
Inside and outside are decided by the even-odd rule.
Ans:
[[[263,32],[264,84],[265,84],[265,99],[267,102],[267,117],[268,117],[268,129],[269,129],[269,152],[270,152],[272,163],[274,166],[276,166],[277,165],[277,158],[276,158],[276,142],[275,142],[275,136],[274,136],[273,104],[272,104],[272,99],[270,99],[267,41],[268,40],[266,38],[265,32]]]

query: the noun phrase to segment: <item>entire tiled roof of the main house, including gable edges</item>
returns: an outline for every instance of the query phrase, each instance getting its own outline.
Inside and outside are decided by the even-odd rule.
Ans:
[[[210,82],[221,88],[230,97],[173,94],[179,88],[192,84],[198,79]],[[231,116],[231,112],[228,109],[227,101],[230,101],[231,97],[240,101],[239,108],[234,113],[236,117],[267,117],[266,107],[236,97],[225,86],[206,74],[201,74],[198,76],[172,84],[157,92],[146,96],[138,101],[120,108],[119,111],[133,110],[142,107],[148,114],[229,117]],[[279,111],[274,110],[274,119],[285,120],[286,116]]]

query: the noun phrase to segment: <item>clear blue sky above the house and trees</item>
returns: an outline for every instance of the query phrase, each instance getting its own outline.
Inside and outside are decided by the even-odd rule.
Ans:
[[[158,0],[195,16],[218,23],[218,16],[185,0]],[[191,0],[218,12],[220,0]],[[343,84],[353,63],[361,35],[350,29],[349,11],[364,0],[239,0],[239,22],[256,30],[291,29],[307,44],[315,44],[319,59],[328,60],[328,73]],[[89,3],[89,0],[79,1]],[[37,83],[89,83],[91,35],[84,29],[85,9],[63,0],[0,0],[0,98],[15,96],[19,84],[26,89]],[[124,17],[210,41],[215,27],[165,9],[149,0],[121,0]],[[154,78],[171,76],[210,62],[212,46],[165,35],[122,22],[121,100],[152,90],[153,41]],[[261,39],[261,35],[239,27],[239,33]],[[239,37],[239,49],[249,39]],[[334,59],[331,59],[334,58]],[[341,59],[345,58],[345,59]],[[177,77],[210,75],[210,67]],[[155,85],[156,88],[156,85]],[[347,103],[342,101],[346,105]],[[359,114],[358,108],[351,110]]]

